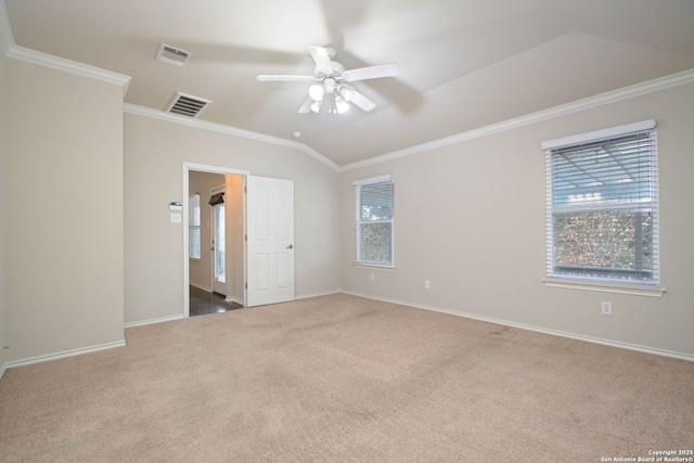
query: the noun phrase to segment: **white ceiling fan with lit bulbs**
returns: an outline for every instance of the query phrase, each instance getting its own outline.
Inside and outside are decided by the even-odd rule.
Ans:
[[[376,104],[355,90],[349,82],[397,76],[400,68],[397,64],[359,67],[345,70],[345,66],[334,61],[335,49],[309,46],[309,53],[316,62],[312,76],[260,75],[259,81],[313,82],[308,88],[308,100],[299,107],[299,113],[319,113],[323,104],[330,114],[343,114],[349,110],[349,103],[363,111],[373,110]]]

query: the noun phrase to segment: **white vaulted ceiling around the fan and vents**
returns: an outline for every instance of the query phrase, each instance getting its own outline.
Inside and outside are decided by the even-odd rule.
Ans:
[[[131,76],[126,102],[164,111],[211,100],[208,120],[360,162],[694,68],[694,0],[4,0],[17,47]],[[155,60],[160,43],[192,53]],[[346,68],[395,62],[356,82],[364,113],[298,114],[307,47]],[[183,117],[183,116],[181,116]]]

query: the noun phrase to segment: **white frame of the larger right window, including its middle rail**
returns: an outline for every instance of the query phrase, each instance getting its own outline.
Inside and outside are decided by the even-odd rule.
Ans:
[[[575,206],[570,206],[567,204],[558,205],[555,204],[555,197],[553,192],[553,179],[554,179],[554,164],[552,160],[552,154],[556,153],[560,150],[569,150],[573,146],[576,146],[576,151],[579,151],[578,146],[581,144],[590,144],[597,143],[603,140],[607,141],[611,139],[616,139],[620,137],[628,137],[638,132],[648,132],[650,142],[651,142],[651,152],[650,152],[650,177],[648,177],[648,189],[651,192],[651,201],[648,202],[633,202],[629,203],[628,206],[624,204],[615,203],[613,205],[599,204],[599,205],[584,205],[577,204]],[[616,293],[626,293],[626,294],[639,294],[639,295],[648,295],[660,297],[665,292],[664,288],[659,287],[660,284],[660,257],[659,257],[659,220],[658,220],[658,211],[659,211],[659,202],[658,202],[658,149],[657,149],[657,132],[656,132],[656,121],[645,120],[642,123],[629,124],[625,126],[614,127],[605,130],[597,130],[593,132],[588,132],[579,136],[567,137],[563,139],[552,140],[542,143],[542,150],[545,154],[545,284],[548,286],[554,287],[573,287],[579,290],[592,290],[592,291],[603,291],[603,292],[616,292]],[[621,153],[620,153],[621,154]],[[624,200],[621,200],[624,201]],[[640,214],[648,213],[651,214],[652,220],[652,278],[651,280],[638,280],[638,279],[624,279],[615,276],[620,273],[622,270],[619,268],[611,268],[609,271],[604,271],[602,273],[612,272],[612,276],[599,275],[595,271],[583,271],[583,274],[561,274],[558,269],[561,266],[557,263],[557,255],[555,247],[555,215],[561,214],[595,214],[595,213],[626,213],[633,214],[634,217],[639,217]],[[637,227],[634,226],[634,229]],[[634,232],[634,237],[638,236]],[[635,246],[635,245],[634,245]],[[602,269],[607,269],[601,267]],[[583,266],[583,269],[588,269],[588,266]],[[632,271],[624,271],[625,273],[643,273],[644,268],[634,269]],[[593,273],[593,274],[591,274]]]

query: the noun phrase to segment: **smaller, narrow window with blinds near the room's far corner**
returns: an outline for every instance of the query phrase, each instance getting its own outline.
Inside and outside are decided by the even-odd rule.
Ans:
[[[355,182],[356,263],[393,267],[393,178]]]

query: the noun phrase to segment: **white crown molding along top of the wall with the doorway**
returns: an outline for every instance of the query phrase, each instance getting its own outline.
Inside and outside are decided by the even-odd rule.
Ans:
[[[244,130],[236,127],[226,126],[223,124],[210,123],[207,120],[192,119],[185,116],[179,116],[177,114],[166,113],[160,110],[153,110],[151,107],[139,106],[137,104],[125,103],[124,112],[128,114],[134,114],[138,116],[150,117],[153,119],[165,120],[167,123],[180,124],[182,126],[195,127],[203,130],[211,130],[219,133],[226,133],[233,137],[240,137],[248,140],[260,141],[264,143],[275,144],[280,146],[292,147],[299,150],[317,160],[325,164],[335,171],[339,171],[340,168],[337,164],[323,156],[318,151],[306,145],[305,143],[286,140],[279,137],[272,137],[265,133],[253,132],[250,130]]]

